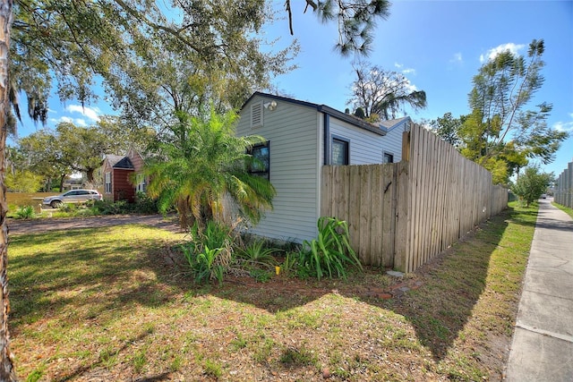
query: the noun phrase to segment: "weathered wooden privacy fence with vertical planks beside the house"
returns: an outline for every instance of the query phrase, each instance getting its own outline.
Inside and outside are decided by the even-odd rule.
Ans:
[[[507,207],[508,191],[413,125],[398,164],[323,166],[321,216],[346,220],[364,265],[412,272]]]

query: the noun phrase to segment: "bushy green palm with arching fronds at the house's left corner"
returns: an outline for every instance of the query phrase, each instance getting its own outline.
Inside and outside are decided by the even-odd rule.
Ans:
[[[178,123],[158,143],[156,159],[146,166],[148,192],[158,198],[164,212],[175,206],[180,225],[194,221],[222,221],[227,195],[239,215],[258,223],[265,208],[272,208],[275,189],[268,180],[249,174],[247,149],[264,142],[260,136],[236,137],[233,112],[208,116],[177,114]]]

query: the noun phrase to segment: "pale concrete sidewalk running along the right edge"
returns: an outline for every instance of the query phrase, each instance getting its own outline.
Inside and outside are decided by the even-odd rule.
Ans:
[[[539,203],[506,376],[573,381],[573,220],[551,199]]]

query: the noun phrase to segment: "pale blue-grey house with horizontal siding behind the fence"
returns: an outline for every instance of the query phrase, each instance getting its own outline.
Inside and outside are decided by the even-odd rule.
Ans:
[[[239,136],[261,135],[252,148],[277,190],[273,209],[249,232],[290,242],[318,234],[321,214],[321,167],[399,162],[402,132],[409,117],[372,124],[326,105],[255,92],[240,111]],[[262,165],[261,165],[262,164]]]

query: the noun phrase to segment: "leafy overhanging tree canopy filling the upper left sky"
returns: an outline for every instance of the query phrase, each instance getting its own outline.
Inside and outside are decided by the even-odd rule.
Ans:
[[[96,76],[117,110],[156,127],[206,99],[239,106],[292,69],[297,49],[265,52],[257,32],[271,13],[252,0],[184,0],[170,10],[137,0],[19,0],[14,18],[13,89],[27,95],[30,116],[42,122],[53,83],[62,100],[83,104],[96,98]]]

